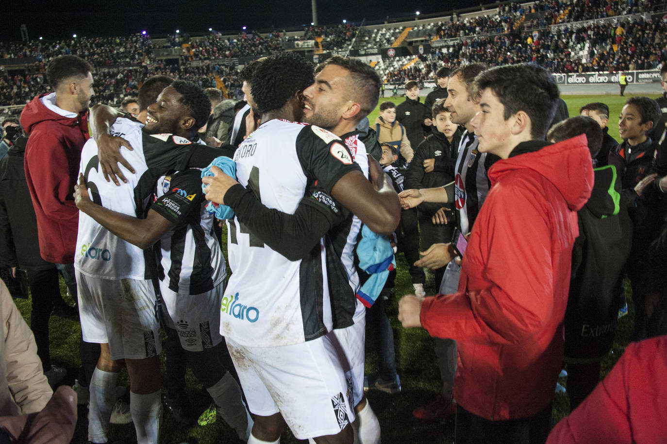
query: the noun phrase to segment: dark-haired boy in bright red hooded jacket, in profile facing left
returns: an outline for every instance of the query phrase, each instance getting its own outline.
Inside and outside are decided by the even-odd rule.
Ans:
[[[480,152],[501,158],[463,256],[458,292],[405,296],[399,319],[457,341],[457,443],[546,440],[563,357],[576,210],[593,168],[585,136],[544,142],[558,87],[534,65],[476,77]]]

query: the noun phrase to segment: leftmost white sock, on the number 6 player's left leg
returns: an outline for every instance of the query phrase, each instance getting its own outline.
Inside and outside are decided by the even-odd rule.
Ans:
[[[116,403],[116,383],[119,373],[103,371],[95,367],[90,379],[90,405],[88,439],[93,443],[106,443],[111,409]]]

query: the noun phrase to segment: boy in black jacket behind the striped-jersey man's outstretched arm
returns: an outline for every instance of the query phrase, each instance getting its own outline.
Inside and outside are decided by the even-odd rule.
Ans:
[[[461,131],[452,123],[452,114],[444,106],[444,99],[437,99],[432,107],[434,131],[415,150],[413,162],[408,165],[405,176],[405,188],[435,188],[454,180],[457,147]],[[452,240],[456,216],[454,207],[422,202],[417,206],[420,226],[421,251],[426,251],[433,244],[447,243]],[[445,268],[435,272],[436,291]]]

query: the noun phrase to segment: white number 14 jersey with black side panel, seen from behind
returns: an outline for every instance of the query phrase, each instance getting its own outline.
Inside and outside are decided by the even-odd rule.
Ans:
[[[330,193],[358,170],[340,138],[315,126],[265,122],[234,155],[238,182],[261,203],[293,214],[317,182]],[[232,274],[221,304],[220,333],[246,347],[292,345],[331,330],[331,303],[323,242],[291,261],[263,244],[234,218],[227,223]]]

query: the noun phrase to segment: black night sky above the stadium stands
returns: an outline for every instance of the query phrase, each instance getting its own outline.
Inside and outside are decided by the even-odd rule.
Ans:
[[[484,2],[487,3],[487,2]],[[414,17],[422,14],[450,13],[454,7],[479,4],[471,0],[435,2],[317,0],[320,25],[341,23],[347,19],[359,24],[386,16]],[[4,2],[0,11],[0,40],[19,41],[22,23],[30,39],[69,37],[73,33],[87,36],[129,35],[144,29],[153,36],[173,33],[175,29],[191,34],[216,31],[236,32],[241,26],[250,29],[283,29],[310,24],[311,1],[215,1],[215,0],[19,0]],[[226,32],[225,32],[226,33]]]

